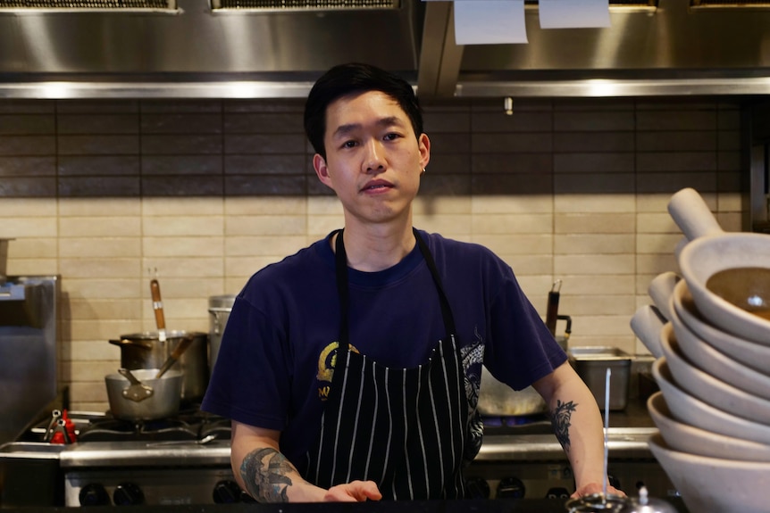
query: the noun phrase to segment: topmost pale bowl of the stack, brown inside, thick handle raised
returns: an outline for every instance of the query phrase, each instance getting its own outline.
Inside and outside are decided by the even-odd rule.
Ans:
[[[690,239],[678,261],[698,310],[728,333],[770,340],[770,236],[724,232],[691,188],[674,194],[668,211]]]

